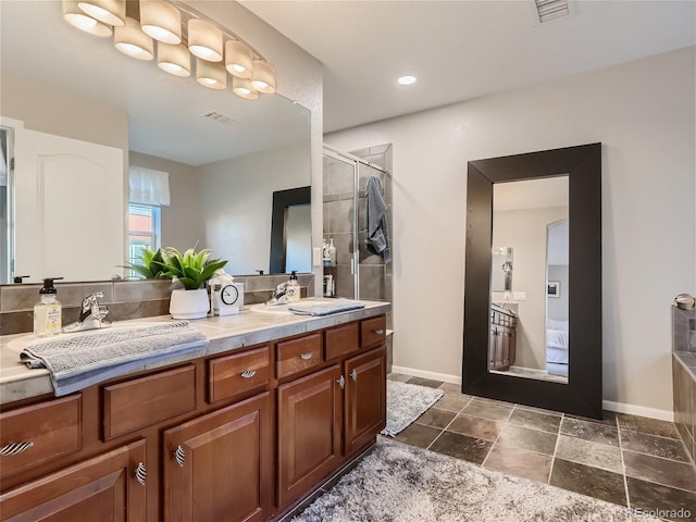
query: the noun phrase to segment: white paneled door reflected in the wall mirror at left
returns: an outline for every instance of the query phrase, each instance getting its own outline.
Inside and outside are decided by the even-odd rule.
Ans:
[[[15,275],[110,279],[124,262],[123,150],[21,129]]]

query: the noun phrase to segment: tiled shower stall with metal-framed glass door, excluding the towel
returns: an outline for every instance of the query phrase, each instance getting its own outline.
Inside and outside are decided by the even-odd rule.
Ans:
[[[376,176],[394,252],[390,163],[390,145],[351,153],[324,146],[324,241],[336,249],[335,261],[324,260],[325,296],[391,301],[391,263],[365,245],[365,185]]]

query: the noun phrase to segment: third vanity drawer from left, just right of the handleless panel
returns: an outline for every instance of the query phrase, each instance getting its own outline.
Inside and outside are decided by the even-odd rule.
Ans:
[[[210,402],[234,397],[269,383],[271,377],[269,347],[212,359],[208,361],[208,369]]]

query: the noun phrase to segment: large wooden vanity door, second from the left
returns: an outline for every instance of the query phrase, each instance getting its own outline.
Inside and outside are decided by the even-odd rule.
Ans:
[[[164,520],[265,520],[273,501],[268,391],[164,432]]]

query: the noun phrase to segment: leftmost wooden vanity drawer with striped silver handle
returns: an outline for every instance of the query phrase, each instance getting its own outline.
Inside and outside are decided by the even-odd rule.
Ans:
[[[9,476],[83,447],[82,395],[0,414],[0,468]]]

